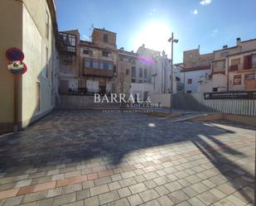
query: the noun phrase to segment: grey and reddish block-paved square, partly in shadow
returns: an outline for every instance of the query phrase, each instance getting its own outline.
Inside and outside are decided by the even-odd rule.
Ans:
[[[253,205],[255,132],[56,110],[0,138],[0,205]]]

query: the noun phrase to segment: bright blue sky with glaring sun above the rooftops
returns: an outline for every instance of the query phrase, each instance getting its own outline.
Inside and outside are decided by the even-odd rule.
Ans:
[[[118,48],[149,49],[171,54],[167,41],[174,33],[174,63],[183,50],[200,54],[256,38],[256,0],[56,0],[59,31],[78,29],[89,41],[92,28],[117,33]]]

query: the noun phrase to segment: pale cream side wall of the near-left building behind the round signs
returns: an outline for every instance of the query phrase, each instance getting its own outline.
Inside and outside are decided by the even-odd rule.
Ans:
[[[51,111],[54,107],[52,78],[55,69],[53,61],[55,45],[52,44],[54,42],[52,27],[50,26],[49,40],[46,42],[24,5],[22,5],[22,25],[22,50],[25,55],[23,61],[27,64],[27,73],[22,75],[22,127],[27,127],[37,116]],[[48,60],[46,60],[46,47]],[[46,63],[49,67],[48,77],[46,77]],[[36,111],[36,83],[40,83],[40,111]]]

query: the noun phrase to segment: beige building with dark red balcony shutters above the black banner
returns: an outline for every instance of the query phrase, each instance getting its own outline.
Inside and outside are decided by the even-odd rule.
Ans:
[[[250,74],[249,76],[246,76],[246,78],[253,78],[253,75],[251,74],[254,73],[254,58],[252,58],[252,55],[254,55],[254,50],[256,50],[256,39],[241,41],[240,38],[236,39],[236,46],[223,46],[221,50],[215,50],[215,59],[212,68],[213,81],[217,81],[218,79],[219,84],[222,86],[222,88],[225,88],[225,90],[246,89],[245,74]],[[254,86],[251,85],[251,83],[250,86],[247,86],[247,88],[252,87]],[[217,92],[222,91],[223,89],[220,90],[219,86],[217,88],[213,88],[212,90]]]

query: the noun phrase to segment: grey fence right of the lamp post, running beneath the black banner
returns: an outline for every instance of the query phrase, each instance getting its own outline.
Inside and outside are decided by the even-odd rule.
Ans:
[[[256,116],[256,99],[205,99],[204,93],[175,93],[173,108]]]

